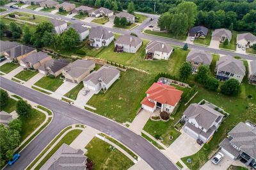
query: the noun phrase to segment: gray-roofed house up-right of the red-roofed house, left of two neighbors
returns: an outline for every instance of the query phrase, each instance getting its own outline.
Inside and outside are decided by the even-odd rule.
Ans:
[[[199,66],[201,65],[208,65],[210,66],[212,63],[212,54],[209,52],[205,52],[202,50],[190,50],[186,61],[188,61],[193,69],[193,72],[197,72]]]

